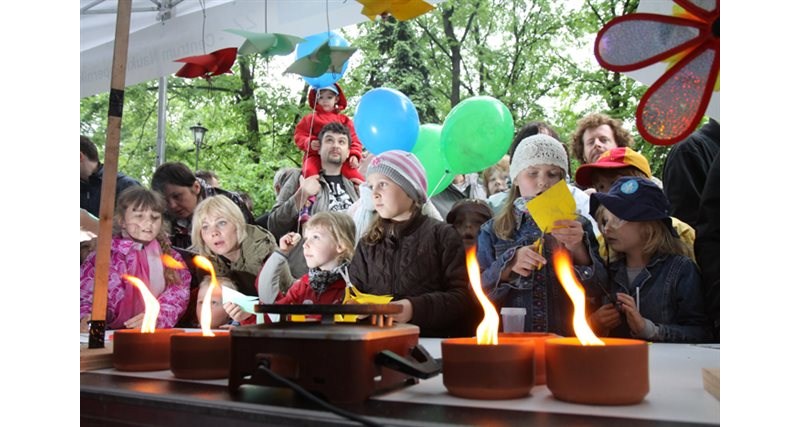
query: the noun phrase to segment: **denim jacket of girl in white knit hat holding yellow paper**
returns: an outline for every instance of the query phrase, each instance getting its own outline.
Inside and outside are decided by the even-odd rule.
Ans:
[[[591,223],[579,217],[583,225],[584,243],[592,257],[592,265],[575,266],[575,272],[584,286],[606,281],[606,270],[597,255],[597,240]],[[572,328],[572,301],[561,287],[550,262],[530,276],[521,277],[512,273],[509,282],[501,282],[500,274],[514,258],[517,249],[533,244],[542,231],[528,215],[517,220],[514,238],[504,240],[494,232],[494,219],[481,226],[478,235],[478,263],[481,268],[483,291],[498,309],[501,307],[524,307],[526,309],[526,332],[553,332],[563,336],[574,336]],[[552,259],[557,242],[551,235],[545,236],[543,255]],[[592,243],[593,242],[593,243]]]

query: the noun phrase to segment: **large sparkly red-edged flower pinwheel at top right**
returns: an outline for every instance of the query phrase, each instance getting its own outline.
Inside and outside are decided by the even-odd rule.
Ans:
[[[636,109],[639,133],[656,145],[689,136],[719,83],[719,0],[674,2],[683,8],[675,16],[637,12],[611,20],[594,45],[597,61],[614,72],[672,64]]]

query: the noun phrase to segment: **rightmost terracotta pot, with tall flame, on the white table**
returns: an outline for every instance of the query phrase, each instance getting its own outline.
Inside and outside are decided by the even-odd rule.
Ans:
[[[583,346],[577,338],[548,340],[547,388],[567,402],[631,405],[650,391],[647,343],[604,338],[604,346]]]

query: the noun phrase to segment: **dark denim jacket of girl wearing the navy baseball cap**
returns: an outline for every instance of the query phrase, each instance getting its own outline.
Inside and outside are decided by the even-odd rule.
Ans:
[[[642,338],[659,342],[703,342],[710,339],[704,310],[700,270],[688,257],[657,255],[628,283],[625,260],[609,267],[611,292],[624,292],[636,299],[639,288],[639,313],[655,328]],[[611,331],[611,336],[631,337],[627,322]]]

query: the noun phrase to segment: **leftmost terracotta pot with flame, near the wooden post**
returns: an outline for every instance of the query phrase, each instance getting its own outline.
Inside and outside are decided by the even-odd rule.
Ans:
[[[114,368],[120,371],[161,371],[169,369],[169,339],[183,329],[156,329],[144,334],[138,329],[114,331]]]

